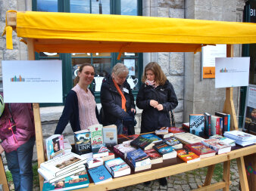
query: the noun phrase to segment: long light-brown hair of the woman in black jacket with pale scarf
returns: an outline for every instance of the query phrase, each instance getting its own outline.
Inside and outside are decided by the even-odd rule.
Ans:
[[[155,82],[158,85],[164,85],[165,82],[167,81],[167,77],[166,75],[164,75],[164,72],[161,69],[161,66],[159,66],[159,64],[156,62],[148,63],[147,66],[145,66],[145,69],[142,75],[142,82],[145,83],[145,80],[147,79],[146,72],[149,69],[152,70],[152,72],[155,74]]]

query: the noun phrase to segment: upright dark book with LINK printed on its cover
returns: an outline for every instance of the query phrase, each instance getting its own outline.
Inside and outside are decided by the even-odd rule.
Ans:
[[[92,152],[91,132],[89,130],[81,130],[73,133],[75,140],[76,154],[83,155]]]

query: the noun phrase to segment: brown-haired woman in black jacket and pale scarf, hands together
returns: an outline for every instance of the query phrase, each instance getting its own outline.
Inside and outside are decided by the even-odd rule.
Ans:
[[[170,127],[170,110],[176,108],[178,100],[173,85],[167,80],[158,63],[151,62],[145,66],[142,82],[136,97],[136,106],[143,109],[141,133]],[[167,185],[165,177],[159,179],[159,182],[162,186]]]

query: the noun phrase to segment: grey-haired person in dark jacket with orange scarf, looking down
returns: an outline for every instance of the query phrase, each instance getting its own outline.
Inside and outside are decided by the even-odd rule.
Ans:
[[[123,133],[125,122],[131,122],[134,131],[136,107],[130,85],[126,81],[129,70],[123,63],[117,63],[112,74],[101,85],[101,122],[103,125],[117,125],[117,134]],[[134,134],[128,129],[128,134]]]

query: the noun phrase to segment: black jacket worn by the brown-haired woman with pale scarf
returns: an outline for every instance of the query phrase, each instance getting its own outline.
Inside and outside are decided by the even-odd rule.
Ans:
[[[150,106],[150,100],[156,100],[164,109],[158,111]],[[164,85],[153,88],[151,85],[142,84],[136,98],[136,106],[142,111],[141,133],[155,131],[158,127],[170,127],[169,111],[176,108],[178,100],[173,85],[167,80]]]

